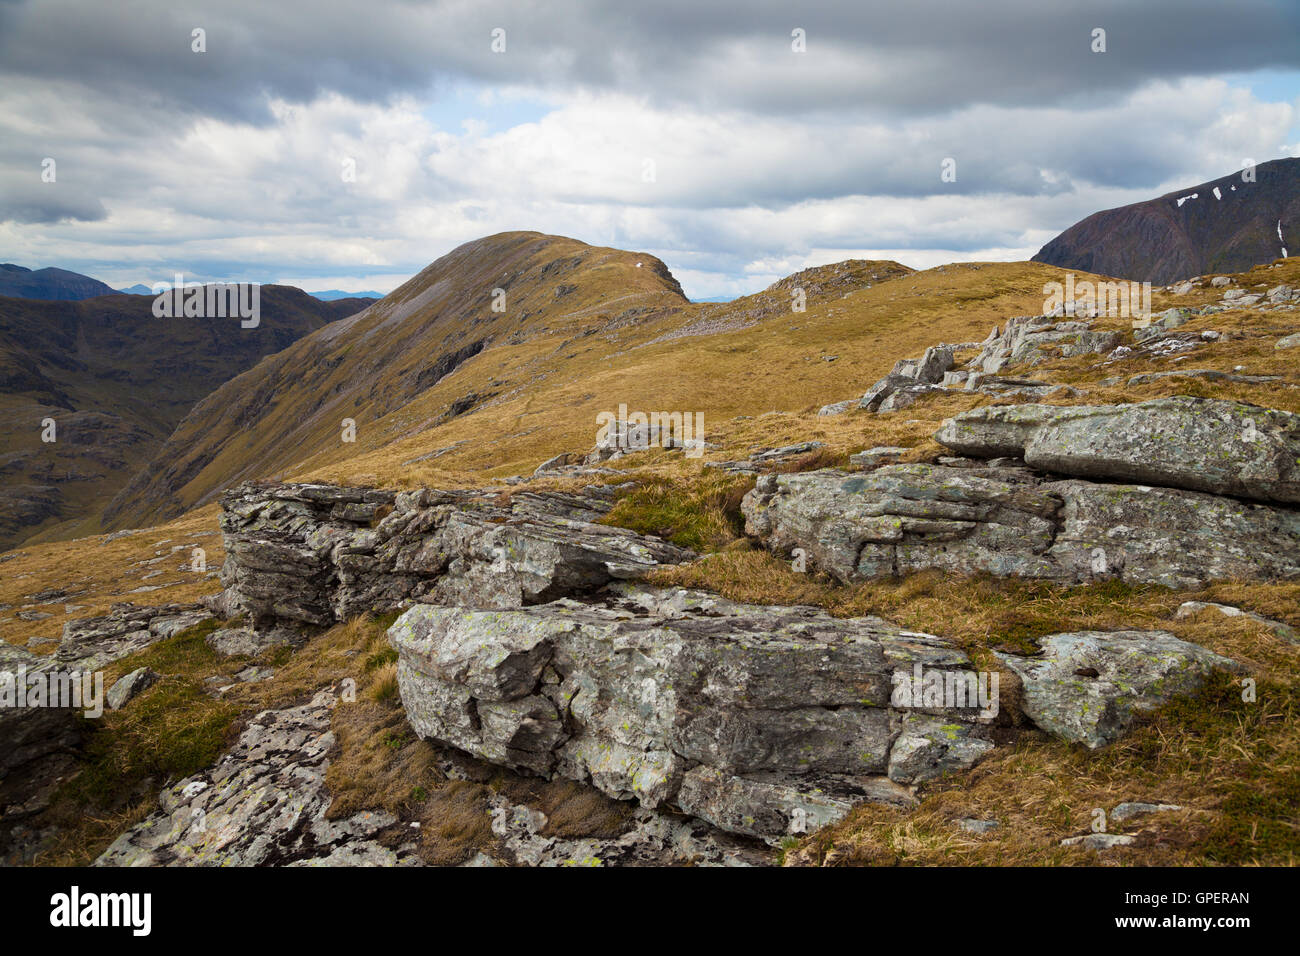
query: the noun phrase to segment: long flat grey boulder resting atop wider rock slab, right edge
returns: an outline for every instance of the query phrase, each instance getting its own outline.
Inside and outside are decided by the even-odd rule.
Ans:
[[[1300,502],[1300,416],[1179,395],[1135,405],[974,408],[935,438],[967,455],[1018,455],[1043,471]]]

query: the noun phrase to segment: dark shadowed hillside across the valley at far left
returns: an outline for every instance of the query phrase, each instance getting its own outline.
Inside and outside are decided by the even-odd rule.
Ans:
[[[355,300],[261,289],[261,321],[156,319],[153,297],[0,298],[0,546],[99,528],[195,402]],[[43,441],[46,420],[53,441]],[[48,433],[47,433],[48,436]]]

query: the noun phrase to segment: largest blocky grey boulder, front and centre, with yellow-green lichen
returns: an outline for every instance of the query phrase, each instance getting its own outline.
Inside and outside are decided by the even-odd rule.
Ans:
[[[900,761],[890,780],[910,713],[892,706],[896,671],[976,679],[941,639],[698,592],[624,584],[602,597],[408,610],[389,639],[412,727],[494,763],[766,839],[859,800],[910,803],[896,780],[970,766],[992,748],[918,745],[914,730],[913,763]],[[939,713],[962,740],[984,741],[996,704],[983,718],[970,704]]]

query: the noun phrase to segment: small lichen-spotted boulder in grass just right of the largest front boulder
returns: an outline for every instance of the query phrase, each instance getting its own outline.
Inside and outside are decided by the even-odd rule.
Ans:
[[[1023,684],[1022,710],[1048,734],[1097,748],[1145,710],[1238,665],[1167,631],[1076,631],[1039,640],[1040,657],[998,653]]]

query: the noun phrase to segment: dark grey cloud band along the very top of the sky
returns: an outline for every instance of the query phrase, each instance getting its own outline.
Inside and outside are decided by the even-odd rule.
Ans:
[[[506,29],[507,49],[489,49]],[[207,31],[205,53],[191,30]],[[790,30],[807,52],[790,52]],[[1108,52],[1089,49],[1093,27]],[[468,78],[616,90],[759,113],[949,111],[1114,95],[1174,79],[1300,66],[1294,0],[589,4],[172,3],[0,5],[0,73],[120,91],[124,105],[266,121],[265,94],[361,101]],[[1082,94],[1080,91],[1087,91]]]

